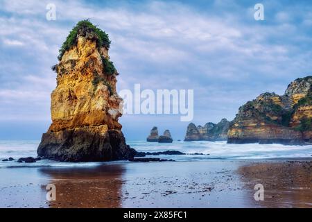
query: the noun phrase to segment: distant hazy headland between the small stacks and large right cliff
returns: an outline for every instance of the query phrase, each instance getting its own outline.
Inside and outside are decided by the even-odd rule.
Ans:
[[[227,119],[221,119],[217,124],[209,122],[206,123],[205,126],[198,127],[196,127],[194,123],[189,123],[184,141],[226,140],[228,130],[229,121],[227,121]]]

